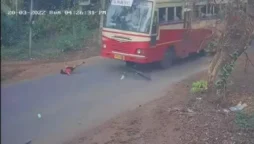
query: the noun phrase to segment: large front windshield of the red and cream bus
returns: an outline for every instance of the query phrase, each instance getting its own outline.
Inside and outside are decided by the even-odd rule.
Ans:
[[[152,2],[144,1],[131,7],[110,4],[104,27],[139,33],[149,33]]]

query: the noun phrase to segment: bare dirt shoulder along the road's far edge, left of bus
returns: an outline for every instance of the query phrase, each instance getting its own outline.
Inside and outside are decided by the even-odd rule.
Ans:
[[[79,60],[66,61],[6,61],[1,64],[1,84],[14,84],[24,80],[32,80],[50,74],[60,73],[65,65],[73,66],[86,62],[85,65],[94,64],[102,58],[99,56]]]

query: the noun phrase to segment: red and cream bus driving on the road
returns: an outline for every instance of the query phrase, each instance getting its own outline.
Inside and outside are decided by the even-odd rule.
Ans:
[[[215,5],[184,0],[112,0],[107,7],[101,56],[163,68],[201,52],[218,13]]]

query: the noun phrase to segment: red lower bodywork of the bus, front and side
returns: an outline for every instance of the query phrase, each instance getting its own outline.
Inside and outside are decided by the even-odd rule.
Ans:
[[[105,33],[112,33],[116,37],[128,37],[133,41],[119,42],[106,36]],[[184,58],[190,53],[200,51],[202,49],[201,44],[211,34],[212,31],[209,29],[192,29],[190,31],[186,29],[161,29],[159,32],[160,39],[156,41],[155,46],[150,46],[150,37],[148,36],[139,37],[137,35],[130,36],[124,33],[114,34],[114,32],[103,31],[103,44],[106,45],[106,48],[102,48],[101,55],[114,59],[115,54],[120,54],[124,55],[124,59],[122,59],[124,61],[151,63],[162,60],[164,52],[173,47],[176,56]],[[137,39],[137,37],[139,38]],[[142,49],[143,55],[138,56],[137,49]]]

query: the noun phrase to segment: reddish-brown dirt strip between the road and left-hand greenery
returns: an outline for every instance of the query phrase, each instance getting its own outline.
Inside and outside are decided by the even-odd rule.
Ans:
[[[95,60],[95,58],[90,57],[97,55],[98,52],[74,51],[53,60],[2,61],[1,83],[10,84],[59,73],[65,65],[73,66],[84,61],[86,64],[90,64]]]

